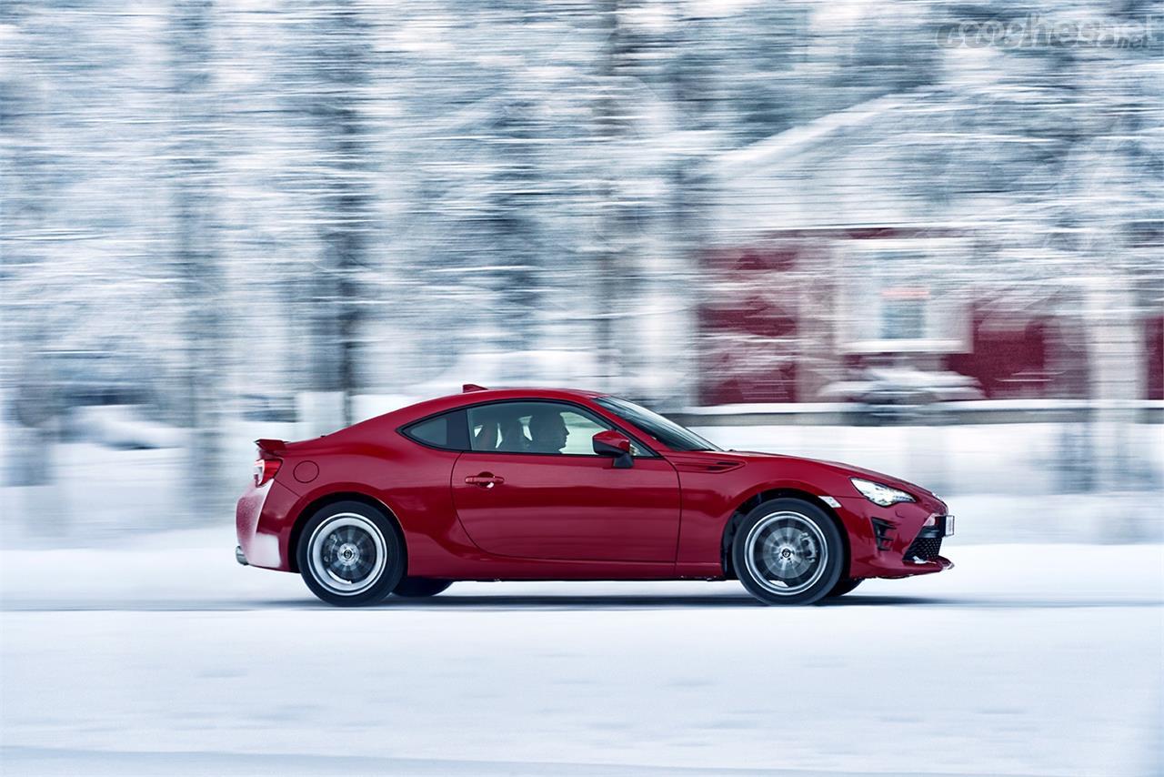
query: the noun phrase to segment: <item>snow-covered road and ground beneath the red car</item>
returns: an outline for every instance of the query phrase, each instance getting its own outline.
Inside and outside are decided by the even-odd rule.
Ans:
[[[950,573],[797,609],[737,584],[461,584],[349,612],[191,538],[0,553],[5,775],[1164,765],[1161,545],[952,544]]]

